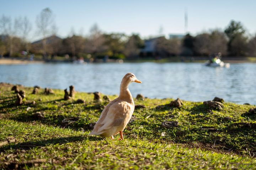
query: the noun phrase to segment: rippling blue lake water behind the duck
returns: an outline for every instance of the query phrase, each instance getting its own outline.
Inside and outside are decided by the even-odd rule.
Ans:
[[[39,85],[77,91],[119,94],[126,73],[134,73],[142,84],[129,86],[135,97],[212,100],[215,96],[234,103],[256,104],[256,64],[231,64],[211,68],[202,63],[100,63],[0,65],[0,81],[25,86]]]

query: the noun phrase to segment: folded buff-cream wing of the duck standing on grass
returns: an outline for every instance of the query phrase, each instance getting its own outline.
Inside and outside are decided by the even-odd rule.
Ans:
[[[100,135],[104,130],[119,127],[129,117],[131,109],[132,105],[128,102],[114,101],[108,104],[89,135]]]

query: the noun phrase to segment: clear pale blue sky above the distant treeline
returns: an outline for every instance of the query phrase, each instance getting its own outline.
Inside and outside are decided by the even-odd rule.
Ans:
[[[250,35],[256,33],[255,0],[0,0],[0,6],[1,16],[28,17],[30,40],[42,37],[36,33],[36,16],[47,7],[62,38],[70,35],[72,28],[86,36],[95,23],[104,33],[136,33],[142,38],[184,34],[185,8],[192,35],[224,30],[231,19],[240,21]]]

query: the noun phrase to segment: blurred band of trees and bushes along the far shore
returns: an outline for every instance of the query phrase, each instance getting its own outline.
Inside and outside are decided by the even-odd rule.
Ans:
[[[126,61],[200,61],[216,53],[225,60],[255,61],[256,35],[250,35],[239,21],[227,23],[224,30],[212,29],[191,35],[156,35],[142,39],[139,34],[104,33],[95,24],[90,34],[82,35],[71,29],[68,37],[58,37],[54,13],[42,10],[36,19],[37,34],[42,39],[28,41],[32,24],[27,17],[0,16],[0,57],[35,60],[99,60]],[[179,56],[183,56],[179,57]],[[250,57],[250,58],[246,58]],[[188,60],[187,60],[188,59]]]

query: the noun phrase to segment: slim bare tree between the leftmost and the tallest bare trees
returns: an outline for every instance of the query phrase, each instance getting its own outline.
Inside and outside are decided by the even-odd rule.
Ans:
[[[28,20],[27,17],[24,17],[22,20],[22,26],[21,26],[21,31],[22,31],[22,39],[23,42],[25,43],[25,48],[27,53],[29,53],[29,43],[28,43],[28,34],[30,33],[32,29],[32,25],[30,23],[30,21]]]

